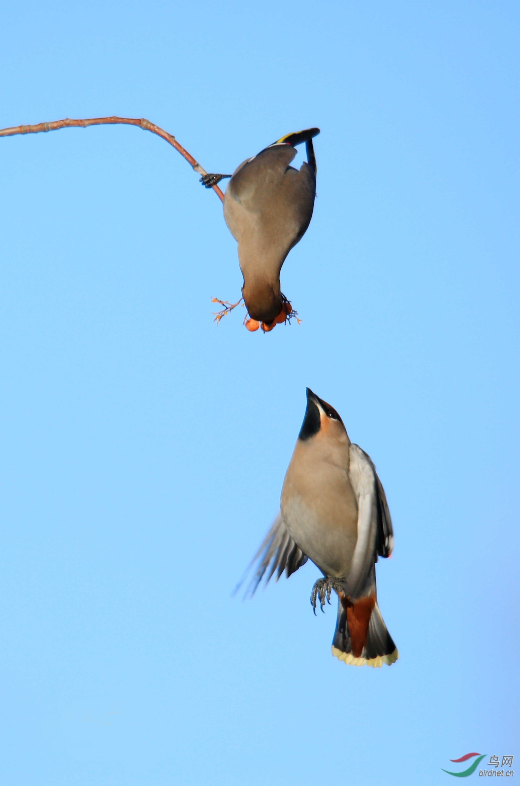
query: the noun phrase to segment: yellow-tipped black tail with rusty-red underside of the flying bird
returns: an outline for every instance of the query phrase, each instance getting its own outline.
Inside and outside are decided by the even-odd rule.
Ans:
[[[399,657],[386,630],[375,595],[349,601],[340,597],[332,654],[352,666],[389,666]]]

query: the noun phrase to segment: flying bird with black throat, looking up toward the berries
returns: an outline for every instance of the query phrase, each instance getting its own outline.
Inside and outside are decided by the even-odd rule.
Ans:
[[[308,559],[324,578],[311,603],[337,594],[332,654],[353,666],[395,663],[396,645],[379,611],[375,564],[393,549],[392,520],[371,458],[351,443],[330,404],[307,388],[307,409],[282,487],[280,512],[253,559],[252,594]]]

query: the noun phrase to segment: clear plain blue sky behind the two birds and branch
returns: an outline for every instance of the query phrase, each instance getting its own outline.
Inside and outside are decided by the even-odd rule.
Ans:
[[[322,132],[282,270],[303,321],[266,336],[213,323],[236,244],[164,141],[0,139],[3,782],[437,786],[450,758],[520,755],[519,23],[478,0],[4,5],[1,127],[144,116],[208,171]],[[385,486],[390,668],[330,655],[311,564],[231,597],[307,385]]]

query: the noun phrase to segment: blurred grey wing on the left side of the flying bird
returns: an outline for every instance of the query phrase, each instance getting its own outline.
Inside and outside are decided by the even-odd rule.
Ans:
[[[264,578],[266,572],[266,584],[275,573],[276,581],[278,581],[283,571],[286,571],[287,578],[289,578],[290,575],[304,565],[307,560],[308,556],[305,556],[301,548],[293,541],[293,538],[291,538],[286,529],[285,523],[283,523],[282,513],[278,512],[278,516],[276,516],[273,526],[267,533],[264,542],[260,545],[260,549],[256,552],[246,571],[246,573],[249,572],[250,567],[256,563],[256,571],[251,579],[246,594],[253,595],[255,593],[256,588],[262,581],[262,578]],[[241,584],[242,582],[240,582],[238,587]]]

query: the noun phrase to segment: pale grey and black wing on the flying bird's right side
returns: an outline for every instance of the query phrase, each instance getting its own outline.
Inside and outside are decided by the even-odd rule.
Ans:
[[[353,443],[350,446],[349,479],[357,498],[358,520],[348,594],[356,598],[367,587],[378,554],[390,556],[392,553],[393,530],[385,492],[371,457]]]

